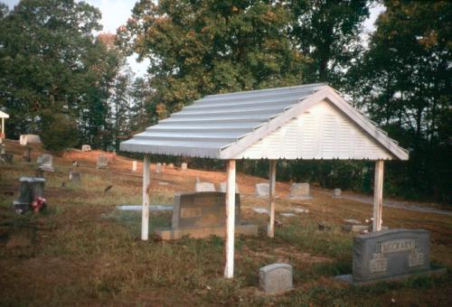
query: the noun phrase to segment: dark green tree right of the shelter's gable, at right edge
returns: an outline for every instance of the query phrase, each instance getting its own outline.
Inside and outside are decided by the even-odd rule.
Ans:
[[[390,189],[417,199],[451,201],[452,3],[384,1],[370,49],[350,71],[360,106],[410,148],[390,164]],[[358,88],[359,90],[356,90]]]

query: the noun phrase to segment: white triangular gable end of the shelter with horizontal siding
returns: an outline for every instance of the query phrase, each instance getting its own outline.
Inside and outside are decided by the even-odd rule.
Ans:
[[[325,100],[252,144],[237,159],[392,159],[392,155]]]

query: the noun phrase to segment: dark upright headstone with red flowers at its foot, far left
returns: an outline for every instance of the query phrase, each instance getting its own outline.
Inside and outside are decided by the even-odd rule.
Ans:
[[[37,177],[21,177],[19,199],[14,200],[14,210],[24,212],[31,209],[33,200],[42,197],[44,193],[44,179]]]

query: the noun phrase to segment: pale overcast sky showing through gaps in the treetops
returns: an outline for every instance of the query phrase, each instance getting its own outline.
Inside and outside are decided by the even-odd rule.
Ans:
[[[19,3],[19,0],[0,0],[5,3],[11,9],[14,5]],[[131,14],[131,10],[137,3],[137,0],[85,0],[90,5],[96,6],[102,13],[102,23],[104,29],[103,32],[116,33],[116,29],[127,22],[128,16]],[[365,31],[373,31],[373,23],[377,16],[384,10],[382,6],[376,6],[371,9],[371,16],[364,23]],[[143,76],[146,73],[146,67],[148,61],[137,63],[135,57],[130,57],[128,63],[137,76]]]

